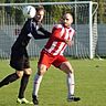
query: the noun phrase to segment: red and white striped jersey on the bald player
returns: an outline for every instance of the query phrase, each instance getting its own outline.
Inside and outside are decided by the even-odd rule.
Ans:
[[[44,46],[44,50],[52,55],[63,55],[63,52],[67,46],[65,40],[72,41],[74,33],[75,30],[71,26],[66,28],[62,24],[56,24],[53,28],[52,35]]]

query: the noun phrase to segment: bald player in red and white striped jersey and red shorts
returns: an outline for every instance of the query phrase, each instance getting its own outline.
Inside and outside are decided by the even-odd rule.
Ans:
[[[61,24],[56,24],[53,30],[51,38],[41,51],[40,60],[38,63],[38,73],[34,77],[32,100],[33,104],[38,105],[38,92],[43,75],[51,65],[60,68],[67,75],[67,100],[77,102],[81,98],[74,96],[74,70],[70,62],[64,57],[63,52],[66,45],[72,45],[74,29],[71,26],[73,17],[70,12],[65,12],[62,17]]]

